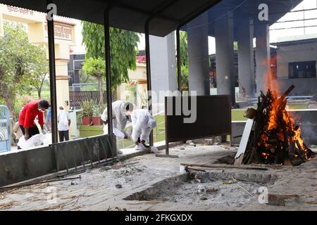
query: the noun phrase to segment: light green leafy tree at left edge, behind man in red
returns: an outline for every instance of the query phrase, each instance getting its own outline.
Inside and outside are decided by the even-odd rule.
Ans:
[[[5,21],[0,37],[0,101],[13,113],[16,97],[30,94],[46,72],[44,46],[30,44],[23,24]]]

